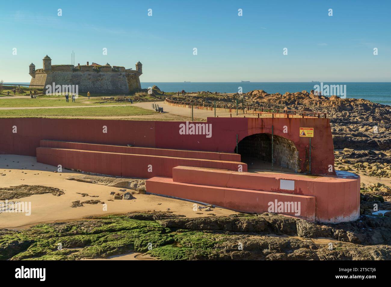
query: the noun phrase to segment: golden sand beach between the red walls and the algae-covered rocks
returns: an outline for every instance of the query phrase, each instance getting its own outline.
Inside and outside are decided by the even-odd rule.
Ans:
[[[37,163],[36,158],[32,156],[0,155],[0,172],[5,174],[0,176],[0,187],[27,184],[50,186],[65,191],[65,194],[59,197],[52,194],[41,194],[18,198],[16,201],[31,202],[30,216],[26,216],[25,213],[0,213],[0,228],[27,228],[36,223],[76,220],[91,215],[167,211],[167,209],[170,209],[169,211],[174,214],[188,217],[211,216],[209,213],[216,216],[235,214],[234,211],[222,208],[213,208],[213,211],[209,213],[197,214],[200,211],[193,211],[193,202],[148,194],[135,194],[133,200],[108,201],[113,198],[110,192],[118,192],[119,188],[70,181],[66,177],[82,174],[70,170],[54,173],[56,170],[57,167]],[[78,192],[98,197],[82,197],[77,194]],[[84,204],[83,207],[72,208],[71,204],[76,200],[100,200],[107,204],[107,211],[103,211],[102,204]]]

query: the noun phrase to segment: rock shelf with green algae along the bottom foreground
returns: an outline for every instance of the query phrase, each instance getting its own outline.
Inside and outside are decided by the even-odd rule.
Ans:
[[[1,229],[0,259],[78,260],[141,252],[160,260],[390,260],[390,223],[391,218],[362,216],[321,225],[270,213],[90,216],[23,230]]]

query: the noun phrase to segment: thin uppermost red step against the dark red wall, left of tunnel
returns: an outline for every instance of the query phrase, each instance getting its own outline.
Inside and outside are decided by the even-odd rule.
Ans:
[[[180,149],[157,149],[147,147],[126,147],[123,145],[99,145],[80,142],[63,142],[41,140],[40,147],[57,147],[60,149],[81,149],[84,151],[120,152],[124,154],[145,154],[151,156],[170,156],[175,158],[214,159],[222,161],[240,161],[240,154],[224,152],[186,151]]]

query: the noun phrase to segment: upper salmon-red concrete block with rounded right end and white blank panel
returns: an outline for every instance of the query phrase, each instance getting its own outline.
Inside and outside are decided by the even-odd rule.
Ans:
[[[174,182],[272,191],[316,197],[316,220],[344,222],[356,220],[360,215],[360,177],[315,177],[281,173],[248,173],[206,168],[176,167]],[[294,181],[294,190],[281,190],[280,180]]]

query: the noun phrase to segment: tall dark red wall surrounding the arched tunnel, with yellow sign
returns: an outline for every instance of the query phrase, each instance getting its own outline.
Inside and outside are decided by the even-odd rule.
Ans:
[[[292,140],[299,151],[300,168],[308,170],[308,138],[299,137],[299,128],[314,128],[312,139],[312,173],[335,174],[334,153],[329,119],[317,118],[208,118],[212,137],[179,135],[184,122],[83,120],[83,119],[0,119],[0,153],[35,156],[39,140],[63,140],[93,144],[158,147],[195,151],[233,152],[236,135],[239,141],[254,133],[271,133]],[[17,133],[13,133],[13,126]],[[102,133],[107,126],[108,133]],[[283,133],[284,127],[288,132]],[[328,172],[328,165],[333,171]]]

